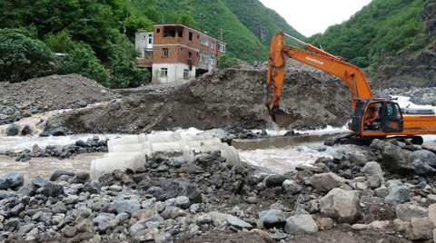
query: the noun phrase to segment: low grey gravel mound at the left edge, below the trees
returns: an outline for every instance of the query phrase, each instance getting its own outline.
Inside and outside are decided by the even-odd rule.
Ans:
[[[79,102],[109,101],[114,94],[94,80],[77,74],[51,75],[23,83],[0,83],[0,112],[6,106],[57,110]]]

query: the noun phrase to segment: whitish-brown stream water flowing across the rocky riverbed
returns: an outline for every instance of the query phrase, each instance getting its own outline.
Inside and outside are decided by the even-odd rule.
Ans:
[[[431,106],[420,106],[414,105],[409,102],[407,97],[398,97],[398,102],[401,107],[425,107],[429,108]],[[431,107],[436,109],[436,107]],[[56,112],[47,112],[39,116],[35,116],[32,120],[27,120],[27,122],[32,121],[35,129],[40,129],[35,125],[41,118],[46,118],[47,116],[54,115]],[[22,121],[25,122],[25,121]],[[5,130],[5,127],[0,126],[0,130]],[[323,130],[315,131],[299,131],[303,133],[309,133],[312,135],[332,133],[332,132],[343,132],[348,131],[345,127],[342,128],[332,128],[327,127]],[[186,134],[197,134],[203,131],[196,129],[182,130]],[[256,132],[256,131],[254,131]],[[270,135],[282,135],[286,133],[285,130],[271,130],[267,131]],[[31,137],[6,137],[4,132],[0,132],[0,151],[20,151],[25,149],[32,149],[34,144],[38,146],[45,147],[47,145],[66,145],[74,143],[78,140],[86,141],[88,138],[94,136],[94,134],[80,134],[73,136],[64,137],[47,137],[41,138],[37,135]],[[108,138],[114,139],[118,136],[125,136],[120,134],[106,134],[98,135],[101,139]],[[425,135],[423,136],[424,141],[435,141],[436,135]],[[274,172],[283,173],[288,170],[292,170],[298,164],[308,164],[313,163],[319,157],[332,156],[334,152],[356,152],[362,153],[365,151],[365,147],[359,147],[355,145],[335,145],[332,147],[324,147],[322,141],[319,142],[306,142],[301,143],[294,147],[287,147],[281,149],[266,149],[266,150],[253,150],[253,151],[238,151],[241,160],[246,160],[254,165],[266,167]],[[95,158],[103,156],[104,153],[89,153],[89,154],[79,154],[72,159],[58,160],[57,158],[39,158],[32,159],[29,162],[15,162],[15,158],[9,158],[7,156],[0,156],[0,176],[11,171],[23,171],[25,173],[25,181],[29,182],[35,176],[42,175],[45,178],[49,178],[54,170],[70,170],[70,171],[88,171],[91,165],[91,161]]]

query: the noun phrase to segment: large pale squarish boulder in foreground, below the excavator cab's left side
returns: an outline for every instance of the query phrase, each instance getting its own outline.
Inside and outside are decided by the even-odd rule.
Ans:
[[[354,223],[360,213],[359,191],[333,189],[320,200],[321,213],[338,222]]]

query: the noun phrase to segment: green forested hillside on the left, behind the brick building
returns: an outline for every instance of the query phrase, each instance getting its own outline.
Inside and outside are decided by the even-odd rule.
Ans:
[[[188,24],[214,37],[223,28],[227,55],[250,63],[256,45],[266,60],[279,30],[303,38],[258,0],[4,0],[0,13],[0,82],[79,73],[113,88],[145,83],[150,73],[133,62],[134,33],[154,23]]]

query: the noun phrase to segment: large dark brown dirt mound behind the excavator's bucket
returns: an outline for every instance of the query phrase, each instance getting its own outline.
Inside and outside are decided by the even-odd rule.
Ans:
[[[64,126],[77,132],[141,132],[173,127],[272,127],[264,106],[265,77],[266,71],[258,70],[213,72],[167,90],[130,92],[121,102],[64,112],[52,118],[47,129]],[[348,87],[326,73],[291,69],[285,74],[282,93],[282,106],[288,110],[298,107],[304,115],[300,127],[341,126],[352,112]]]

